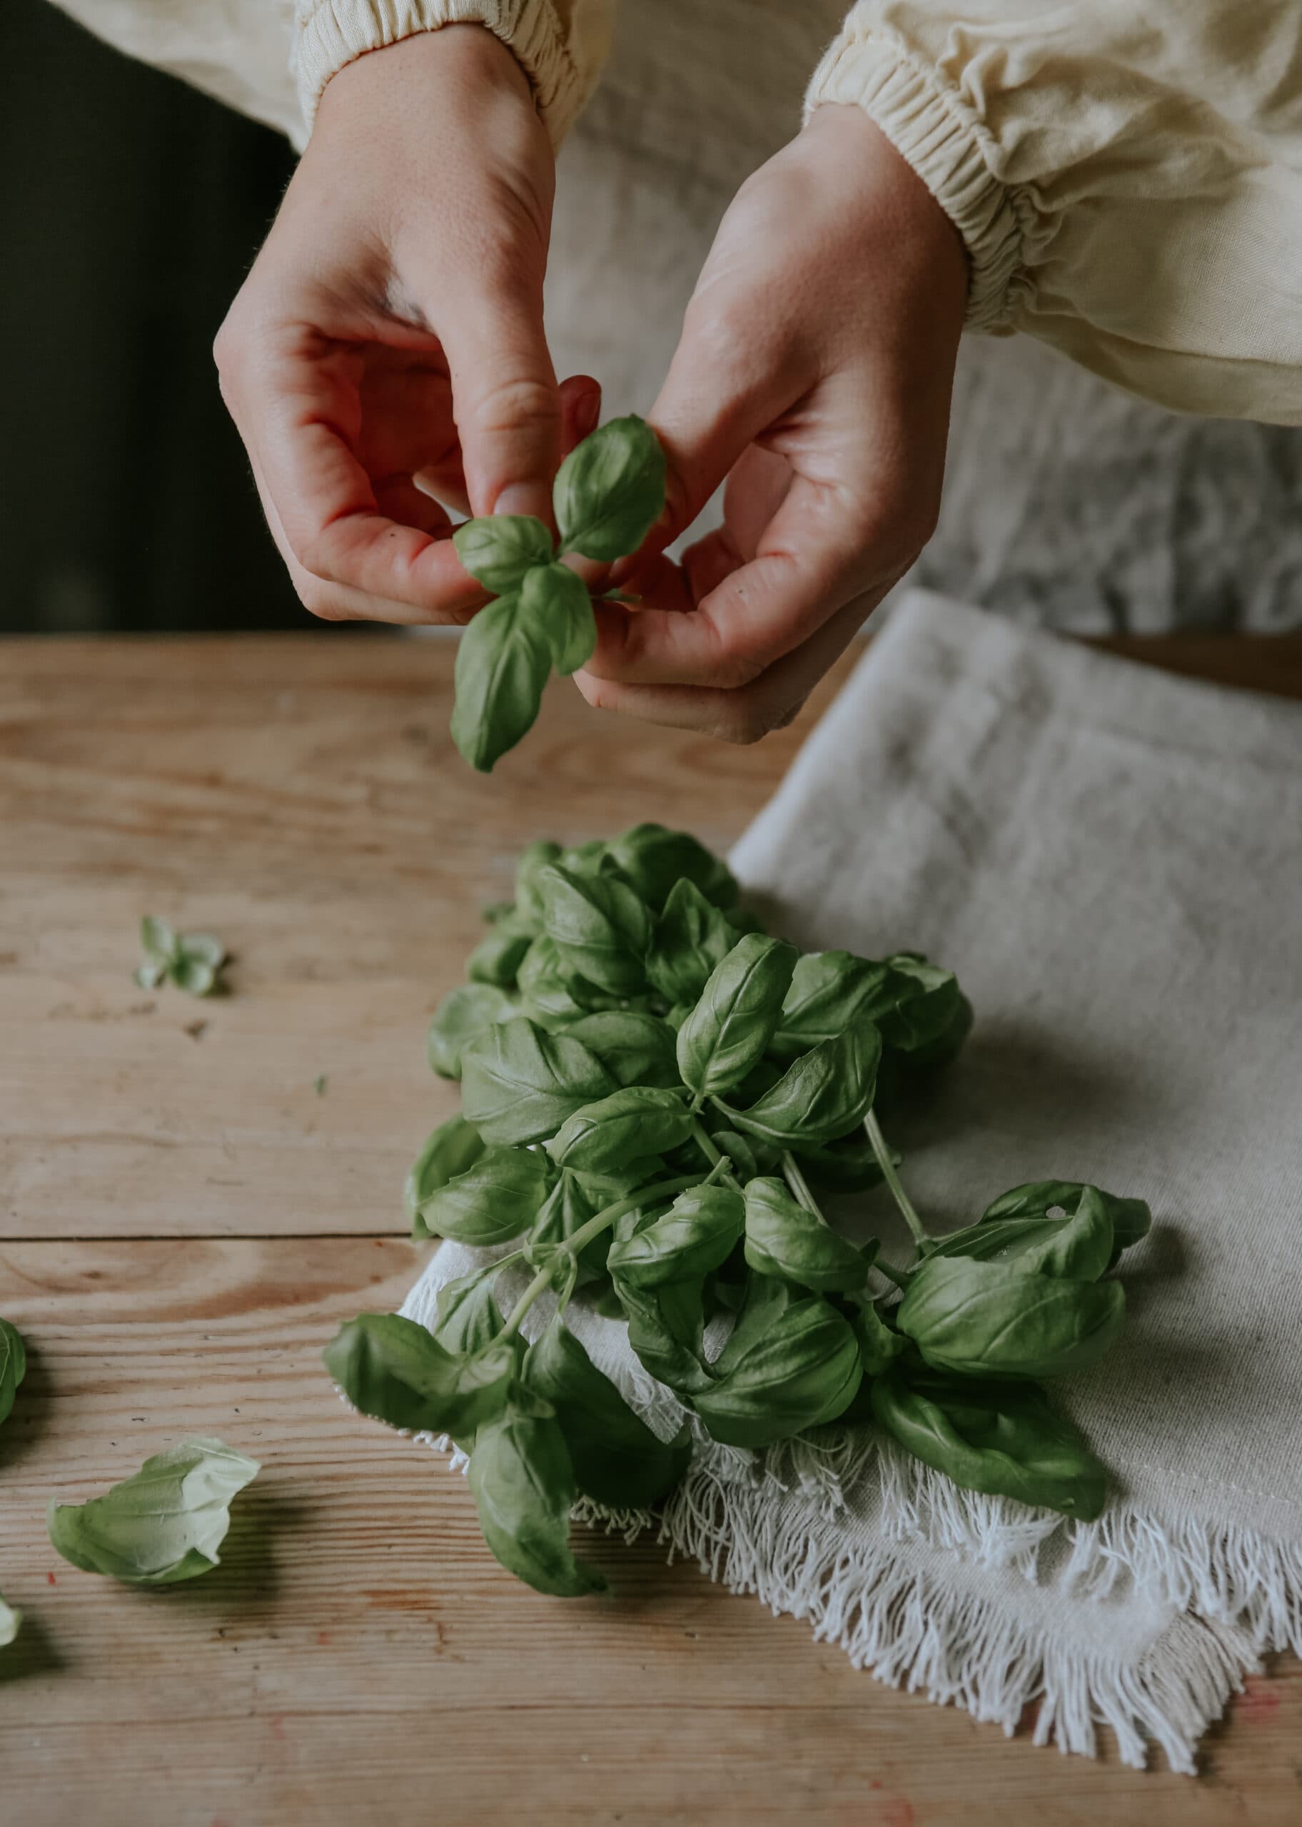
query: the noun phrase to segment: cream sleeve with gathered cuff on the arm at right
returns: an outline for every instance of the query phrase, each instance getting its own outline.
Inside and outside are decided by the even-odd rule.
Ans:
[[[962,234],[971,329],[1302,424],[1298,0],[859,0],[806,111],[828,102]]]

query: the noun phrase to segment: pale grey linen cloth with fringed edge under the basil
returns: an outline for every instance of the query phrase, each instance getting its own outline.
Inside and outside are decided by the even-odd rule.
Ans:
[[[1258,1653],[1302,1650],[1300,764],[1298,707],[914,592],[733,855],[772,930],[920,948],[971,996],[964,1056],[891,1127],[925,1219],[1059,1177],[1154,1230],[1119,1346],[1055,1390],[1114,1473],[1097,1524],[830,1429],[763,1460],[702,1438],[662,1540],[881,1679],[1008,1732],[1039,1701],[1066,1750],[1108,1723],[1192,1770]],[[885,1193],[854,1222],[903,1253]],[[404,1312],[472,1259],[443,1246]],[[624,1326],[571,1317],[671,1429]]]

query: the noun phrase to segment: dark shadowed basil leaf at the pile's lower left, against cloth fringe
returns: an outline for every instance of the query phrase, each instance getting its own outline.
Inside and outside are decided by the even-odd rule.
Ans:
[[[521,1374],[556,1410],[574,1482],[598,1504],[647,1509],[686,1473],[688,1431],[671,1442],[653,1434],[560,1319],[528,1346]]]

